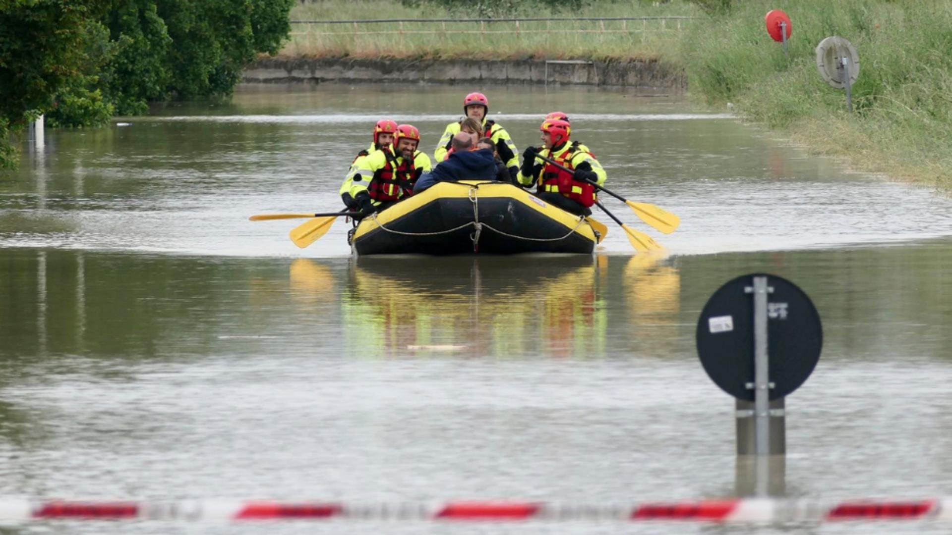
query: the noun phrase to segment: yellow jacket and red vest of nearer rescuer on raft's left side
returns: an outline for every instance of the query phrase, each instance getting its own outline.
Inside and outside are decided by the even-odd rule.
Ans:
[[[432,168],[429,156],[422,150],[413,153],[413,160],[405,162],[403,156],[394,156],[389,147],[376,149],[357,156],[340,193],[349,193],[356,198],[367,191],[374,204],[395,201],[413,194],[413,185],[420,175]]]

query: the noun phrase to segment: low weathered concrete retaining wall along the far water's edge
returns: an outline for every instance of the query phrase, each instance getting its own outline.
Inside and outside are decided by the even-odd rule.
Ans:
[[[592,65],[547,65],[549,85],[685,89],[684,73],[655,61],[608,61]],[[436,84],[546,82],[545,60],[372,60],[354,58],[262,58],[248,66],[244,81],[423,82]]]

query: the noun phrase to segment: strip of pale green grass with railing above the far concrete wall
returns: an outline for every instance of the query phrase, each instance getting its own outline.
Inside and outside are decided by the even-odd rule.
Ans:
[[[684,2],[660,6],[651,3],[616,3],[598,0],[583,10],[553,12],[522,8],[508,17],[632,17],[701,15]],[[291,20],[437,19],[480,18],[424,4],[407,8],[395,1],[324,0],[301,3],[291,10]],[[673,59],[684,31],[696,21],[552,21],[421,23],[352,25],[291,25],[291,39],[281,51],[293,57],[439,58],[439,59]],[[380,33],[388,31],[389,33]],[[415,33],[427,31],[429,33]],[[336,35],[327,35],[333,32]]]

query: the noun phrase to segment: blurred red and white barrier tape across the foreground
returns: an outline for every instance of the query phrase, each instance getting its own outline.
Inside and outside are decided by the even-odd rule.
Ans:
[[[859,520],[952,521],[952,498],[829,502],[737,498],[639,505],[560,505],[535,502],[448,502],[344,504],[238,500],[177,502],[31,501],[0,499],[0,521],[169,520],[446,520],[509,522],[698,521],[713,523],[801,523]]]

